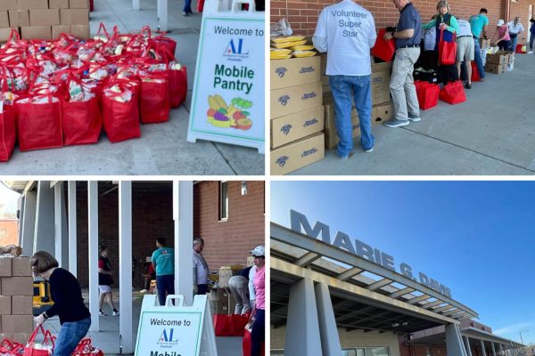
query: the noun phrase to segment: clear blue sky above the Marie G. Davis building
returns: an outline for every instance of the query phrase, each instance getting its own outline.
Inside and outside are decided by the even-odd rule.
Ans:
[[[408,263],[493,333],[535,342],[535,182],[271,182],[271,221],[311,224]]]

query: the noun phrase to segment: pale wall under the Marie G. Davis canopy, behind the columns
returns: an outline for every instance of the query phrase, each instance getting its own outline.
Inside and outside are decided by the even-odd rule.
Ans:
[[[271,349],[284,349],[285,327],[271,327]],[[390,356],[400,356],[398,336],[392,333],[379,334],[379,331],[365,333],[363,330],[353,330],[347,332],[344,328],[338,329],[342,349],[350,347],[388,347]]]

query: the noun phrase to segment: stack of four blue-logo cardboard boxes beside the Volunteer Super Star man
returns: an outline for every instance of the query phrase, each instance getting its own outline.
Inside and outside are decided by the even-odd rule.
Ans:
[[[270,61],[271,174],[325,158],[319,56]]]

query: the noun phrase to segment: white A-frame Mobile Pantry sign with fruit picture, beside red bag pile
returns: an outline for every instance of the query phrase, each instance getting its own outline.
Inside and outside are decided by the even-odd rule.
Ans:
[[[266,12],[256,12],[252,0],[234,0],[230,11],[226,4],[204,4],[187,141],[226,142],[263,154]]]

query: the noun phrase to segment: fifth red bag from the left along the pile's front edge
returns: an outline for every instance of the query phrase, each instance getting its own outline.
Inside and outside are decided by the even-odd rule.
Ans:
[[[165,74],[149,74],[141,78],[139,111],[144,124],[160,123],[169,120],[169,80]],[[163,83],[148,80],[163,80]]]

